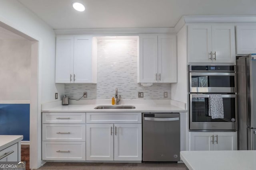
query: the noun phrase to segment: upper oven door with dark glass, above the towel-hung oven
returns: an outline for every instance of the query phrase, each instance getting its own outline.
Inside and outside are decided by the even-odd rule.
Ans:
[[[190,93],[235,93],[235,72],[190,72]]]

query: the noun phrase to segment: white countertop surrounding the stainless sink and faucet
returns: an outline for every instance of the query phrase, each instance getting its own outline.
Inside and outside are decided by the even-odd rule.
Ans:
[[[129,104],[130,105],[130,104]],[[42,109],[42,112],[186,112],[187,110],[170,104],[132,104],[135,109],[94,109],[100,104],[72,104]],[[122,106],[122,105],[118,105]]]

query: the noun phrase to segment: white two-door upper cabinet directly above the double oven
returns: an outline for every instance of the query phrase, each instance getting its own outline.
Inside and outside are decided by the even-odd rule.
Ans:
[[[235,63],[234,25],[188,25],[189,63]]]

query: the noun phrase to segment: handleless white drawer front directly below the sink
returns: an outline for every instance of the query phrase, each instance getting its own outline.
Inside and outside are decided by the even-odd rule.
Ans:
[[[86,113],[86,123],[141,123],[138,112]]]

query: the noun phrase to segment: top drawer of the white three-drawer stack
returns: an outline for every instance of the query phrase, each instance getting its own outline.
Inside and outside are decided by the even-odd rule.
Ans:
[[[42,113],[42,123],[85,123],[85,113]]]

